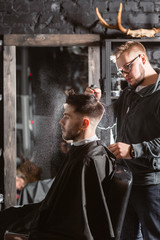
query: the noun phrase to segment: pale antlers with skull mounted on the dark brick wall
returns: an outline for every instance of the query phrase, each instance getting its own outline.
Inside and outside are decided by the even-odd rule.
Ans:
[[[117,24],[116,25],[110,25],[108,24],[101,16],[98,8],[96,8],[96,14],[99,18],[100,23],[105,26],[106,28],[110,29],[117,29],[127,35],[130,35],[134,38],[142,38],[142,37],[155,37],[155,34],[160,32],[160,28],[152,28],[152,29],[136,29],[136,30],[130,30],[126,29],[121,24],[121,16],[122,16],[122,3],[120,3],[118,15],[117,15]]]

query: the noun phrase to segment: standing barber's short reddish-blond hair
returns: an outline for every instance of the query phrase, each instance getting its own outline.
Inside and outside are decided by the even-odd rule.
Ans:
[[[125,51],[130,51],[133,49],[137,52],[139,51],[139,52],[147,55],[146,49],[143,46],[143,44],[141,44],[140,42],[137,42],[137,41],[128,41],[128,42],[125,42],[124,44],[120,45],[113,53],[113,56],[115,56],[116,59],[118,59],[121,56],[121,54],[123,54]]]

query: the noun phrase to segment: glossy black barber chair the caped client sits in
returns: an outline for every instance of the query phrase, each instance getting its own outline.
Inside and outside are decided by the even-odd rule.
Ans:
[[[115,235],[113,240],[120,239],[131,187],[132,173],[129,168],[116,164],[105,194]],[[4,240],[28,240],[28,236],[6,232]]]

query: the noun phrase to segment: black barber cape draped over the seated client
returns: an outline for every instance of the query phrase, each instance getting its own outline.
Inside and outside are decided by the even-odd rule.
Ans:
[[[99,140],[72,146],[35,214],[29,240],[111,239],[105,195],[114,161]]]

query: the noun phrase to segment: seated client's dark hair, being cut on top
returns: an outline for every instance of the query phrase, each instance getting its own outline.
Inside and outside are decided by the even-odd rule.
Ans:
[[[103,105],[93,94],[77,94],[71,90],[66,93],[66,103],[73,106],[75,112],[91,118],[100,119],[104,113]]]

